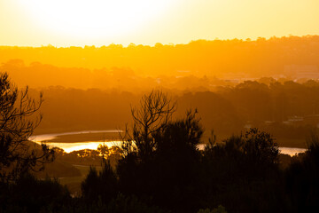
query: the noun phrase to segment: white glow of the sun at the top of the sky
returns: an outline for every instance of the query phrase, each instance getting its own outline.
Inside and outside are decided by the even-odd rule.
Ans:
[[[60,36],[92,39],[143,28],[167,11],[169,0],[20,0],[35,22]]]

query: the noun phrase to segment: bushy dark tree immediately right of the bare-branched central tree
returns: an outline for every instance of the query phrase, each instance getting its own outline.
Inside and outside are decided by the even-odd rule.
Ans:
[[[157,147],[149,170],[149,187],[157,204],[175,212],[194,212],[198,207],[198,167],[203,128],[197,111],[158,130],[154,139]]]

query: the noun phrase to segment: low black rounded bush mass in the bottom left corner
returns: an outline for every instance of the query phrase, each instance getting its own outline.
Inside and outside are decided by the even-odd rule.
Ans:
[[[71,201],[57,180],[39,180],[27,173],[0,188],[0,212],[58,212]]]

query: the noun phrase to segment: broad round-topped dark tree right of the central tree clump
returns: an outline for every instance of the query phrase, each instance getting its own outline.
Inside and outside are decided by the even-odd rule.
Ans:
[[[274,138],[258,129],[211,143],[200,163],[199,200],[204,207],[222,204],[230,212],[284,212],[278,156]]]

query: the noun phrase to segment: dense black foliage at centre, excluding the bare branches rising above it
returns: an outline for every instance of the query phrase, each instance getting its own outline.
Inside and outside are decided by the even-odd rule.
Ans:
[[[196,196],[191,183],[197,177],[197,145],[203,133],[195,114],[189,112],[186,118],[166,122],[152,132],[148,139],[152,139],[154,148],[147,161],[139,157],[136,144],[136,152],[128,153],[119,162],[118,175],[124,193],[136,194],[166,209],[190,210]]]

